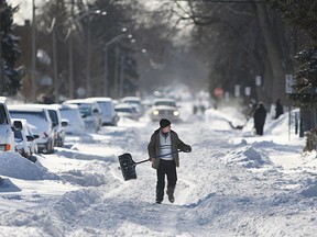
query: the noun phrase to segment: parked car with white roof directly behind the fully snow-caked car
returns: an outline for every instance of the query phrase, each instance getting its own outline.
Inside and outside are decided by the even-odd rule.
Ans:
[[[79,106],[86,131],[96,133],[100,129],[101,110],[97,102],[87,99],[75,99],[67,100],[63,104],[77,104]]]

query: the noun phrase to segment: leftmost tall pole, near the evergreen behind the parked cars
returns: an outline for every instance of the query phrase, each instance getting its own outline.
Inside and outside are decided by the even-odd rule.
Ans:
[[[33,11],[32,11],[32,99],[36,100],[36,44],[35,44],[35,0],[33,0]]]

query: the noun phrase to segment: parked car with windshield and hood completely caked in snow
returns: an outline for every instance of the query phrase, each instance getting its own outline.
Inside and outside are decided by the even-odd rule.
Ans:
[[[68,122],[66,134],[81,135],[85,133],[85,123],[77,104],[59,104],[62,120]]]

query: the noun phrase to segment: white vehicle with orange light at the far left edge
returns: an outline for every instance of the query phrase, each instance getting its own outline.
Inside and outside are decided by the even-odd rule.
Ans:
[[[14,129],[7,106],[7,98],[0,97],[0,151],[14,151]]]

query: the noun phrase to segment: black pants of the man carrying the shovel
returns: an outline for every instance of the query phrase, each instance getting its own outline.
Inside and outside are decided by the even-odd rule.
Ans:
[[[165,188],[165,174],[167,177],[167,191],[174,192],[177,173],[176,165],[174,160],[160,160],[158,169],[156,170],[157,182],[156,182],[156,201],[163,201],[164,188]]]

